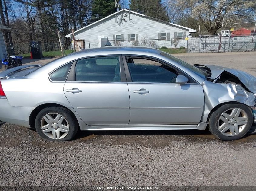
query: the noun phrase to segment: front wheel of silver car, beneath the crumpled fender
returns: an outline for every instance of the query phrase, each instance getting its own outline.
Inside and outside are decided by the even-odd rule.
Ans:
[[[253,114],[244,104],[225,104],[215,110],[209,118],[209,130],[218,139],[237,140],[251,128]]]

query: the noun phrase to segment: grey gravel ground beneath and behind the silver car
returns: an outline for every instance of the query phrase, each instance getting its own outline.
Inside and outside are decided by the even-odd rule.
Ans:
[[[256,75],[256,53],[222,54],[175,56],[215,65],[219,59],[223,66]],[[5,123],[0,126],[0,186],[256,186],[254,145],[255,134],[225,142],[200,130],[88,131],[78,132],[73,141],[49,142]]]

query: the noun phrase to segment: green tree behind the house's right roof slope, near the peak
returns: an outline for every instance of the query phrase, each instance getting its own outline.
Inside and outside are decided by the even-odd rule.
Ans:
[[[129,7],[132,11],[169,21],[166,7],[161,0],[130,0]]]

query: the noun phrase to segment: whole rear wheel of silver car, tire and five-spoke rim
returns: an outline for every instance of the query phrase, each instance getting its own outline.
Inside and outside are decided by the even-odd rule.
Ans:
[[[35,119],[38,134],[49,141],[68,141],[74,138],[78,123],[70,110],[62,107],[46,107]]]

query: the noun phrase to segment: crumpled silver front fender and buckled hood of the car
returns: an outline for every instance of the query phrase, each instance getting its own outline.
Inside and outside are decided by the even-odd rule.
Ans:
[[[208,73],[207,80],[202,84],[204,93],[207,95],[205,111],[210,113],[219,103],[236,101],[251,108],[254,123],[256,123],[256,78],[254,76],[221,66],[200,64],[194,66]],[[203,121],[207,120],[206,117],[206,115],[203,116]]]

